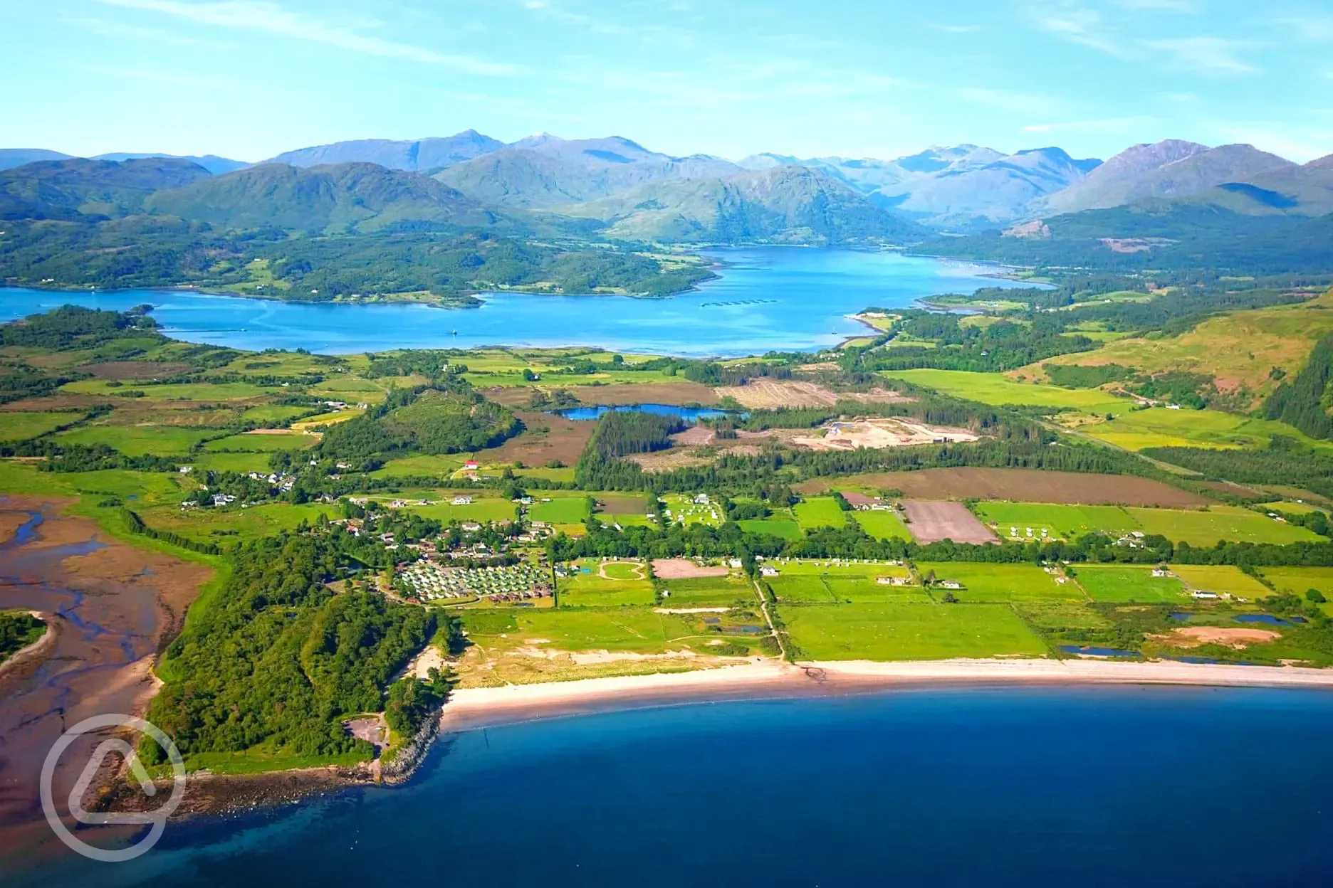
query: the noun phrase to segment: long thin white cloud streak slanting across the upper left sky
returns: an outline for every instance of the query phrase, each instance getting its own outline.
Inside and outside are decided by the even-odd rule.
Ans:
[[[260,31],[280,37],[324,44],[348,52],[381,59],[403,59],[441,65],[469,75],[515,75],[517,65],[493,63],[476,56],[440,53],[409,43],[384,40],[289,12],[273,3],[255,0],[221,0],[217,3],[180,3],[179,0],[95,0],[108,7],[159,12],[219,28]]]

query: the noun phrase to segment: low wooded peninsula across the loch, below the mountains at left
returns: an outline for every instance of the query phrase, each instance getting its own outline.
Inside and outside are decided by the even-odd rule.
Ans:
[[[247,284],[255,293],[255,282],[269,281],[259,290],[265,298],[308,302],[352,294],[460,297],[539,282],[563,293],[612,288],[668,296],[712,274],[697,265],[665,270],[657,260],[628,250],[539,246],[492,233],[289,237],[279,229],[225,232],[164,217],[5,225],[0,278],[28,286],[48,278],[63,286],[105,289]]]

